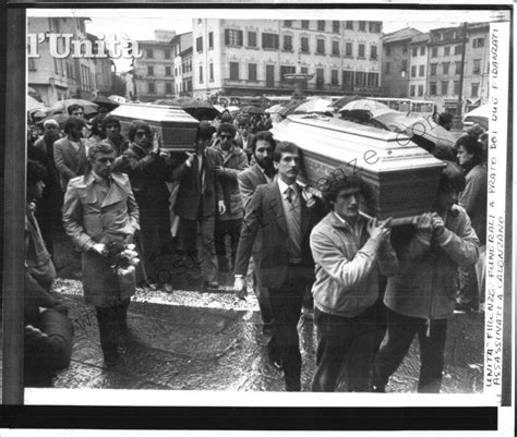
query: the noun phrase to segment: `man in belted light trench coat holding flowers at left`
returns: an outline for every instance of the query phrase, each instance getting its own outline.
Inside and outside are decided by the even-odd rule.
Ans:
[[[95,306],[105,364],[117,364],[119,336],[127,326],[135,274],[121,274],[107,252],[112,244],[133,243],[140,230],[139,206],[127,174],[112,171],[115,149],[108,144],[88,150],[88,171],[70,181],[64,195],[63,224],[83,252],[85,302]]]

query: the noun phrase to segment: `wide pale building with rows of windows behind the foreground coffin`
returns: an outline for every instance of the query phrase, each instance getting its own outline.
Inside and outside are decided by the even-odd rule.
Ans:
[[[378,95],[382,22],[328,20],[193,21],[193,94]]]

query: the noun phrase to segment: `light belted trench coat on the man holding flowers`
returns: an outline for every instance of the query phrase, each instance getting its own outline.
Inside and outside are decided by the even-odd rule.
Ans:
[[[95,243],[132,243],[134,232],[140,230],[139,207],[128,175],[112,173],[112,180],[100,202],[95,178],[88,171],[70,181],[63,203],[64,230],[83,251],[84,298],[96,306],[129,298],[135,290],[134,275],[119,280],[112,262],[92,251]]]

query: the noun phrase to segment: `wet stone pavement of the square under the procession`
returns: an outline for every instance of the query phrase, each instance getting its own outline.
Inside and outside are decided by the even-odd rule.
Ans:
[[[117,366],[105,368],[95,313],[82,300],[80,254],[64,235],[56,241],[60,278],[55,292],[70,308],[74,345],[71,365],[56,375],[53,387],[284,391],[282,374],[267,357],[268,338],[262,333],[256,299],[252,292],[245,301],[235,298],[228,274],[219,275],[217,292],[205,292],[179,276],[172,276],[171,293],[137,289],[129,308],[130,336],[121,344]],[[163,256],[159,263],[170,266],[173,256]],[[450,318],[443,392],[482,391],[483,329],[483,313]],[[315,368],[313,320],[301,317],[299,332],[302,390],[309,391]],[[414,392],[418,373],[416,340],[386,390]]]

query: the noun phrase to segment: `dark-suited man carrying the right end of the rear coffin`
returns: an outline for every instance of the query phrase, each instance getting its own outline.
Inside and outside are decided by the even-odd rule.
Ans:
[[[194,153],[184,153],[177,157],[180,163],[172,170],[172,180],[180,181],[175,214],[181,219],[187,272],[191,279],[197,279],[201,267],[203,286],[217,289],[219,283],[214,241],[215,217],[216,214],[223,216],[226,207],[223,189],[215,172],[216,167],[223,166],[223,158],[216,149],[208,147],[212,133],[211,123],[202,121],[197,129]],[[202,240],[201,259],[197,251],[197,229]]]

